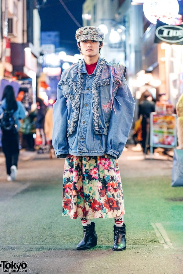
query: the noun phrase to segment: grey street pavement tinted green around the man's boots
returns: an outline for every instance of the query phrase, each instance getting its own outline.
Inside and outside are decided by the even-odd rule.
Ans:
[[[0,259],[27,262],[27,273],[183,273],[183,188],[172,188],[172,158],[119,159],[127,250],[115,252],[113,219],[95,219],[96,248],[77,251],[79,219],[62,216],[63,159],[21,151],[16,182],[0,155]],[[0,268],[0,273],[2,268]]]

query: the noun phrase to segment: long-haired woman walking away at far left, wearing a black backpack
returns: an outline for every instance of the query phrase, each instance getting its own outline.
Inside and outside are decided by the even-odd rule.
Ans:
[[[16,180],[19,156],[19,135],[21,119],[25,118],[26,109],[16,102],[13,87],[5,86],[0,102],[0,124],[2,129],[2,151],[6,158],[7,181]]]

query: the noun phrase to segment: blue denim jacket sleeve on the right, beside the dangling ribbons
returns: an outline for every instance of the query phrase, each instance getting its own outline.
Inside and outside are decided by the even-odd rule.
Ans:
[[[107,136],[106,154],[113,159],[118,159],[124,149],[135,110],[135,100],[124,76],[122,76],[121,80],[123,84],[118,88],[113,102],[114,107],[111,112]]]

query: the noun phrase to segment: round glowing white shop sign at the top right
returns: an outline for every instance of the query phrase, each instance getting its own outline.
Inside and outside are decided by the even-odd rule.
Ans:
[[[146,0],[143,4],[145,17],[153,24],[160,21],[172,24],[178,16],[179,4],[177,0]]]

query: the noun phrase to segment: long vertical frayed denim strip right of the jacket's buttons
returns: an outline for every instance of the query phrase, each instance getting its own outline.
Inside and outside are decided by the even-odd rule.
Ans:
[[[103,66],[104,66],[105,60],[101,59],[98,65],[98,68],[96,70],[96,75],[93,79],[92,83],[92,94],[93,94],[93,106],[92,106],[92,112],[93,112],[93,125],[94,129],[98,130],[99,129],[99,86],[98,82],[100,79],[100,76],[102,74]]]

